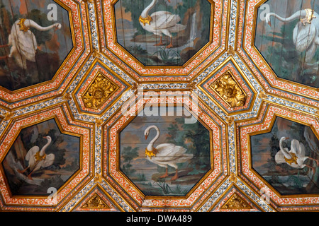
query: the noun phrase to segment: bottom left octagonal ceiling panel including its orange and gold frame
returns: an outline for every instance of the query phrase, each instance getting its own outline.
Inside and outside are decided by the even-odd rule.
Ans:
[[[12,119],[0,150],[0,191],[7,206],[42,203],[52,210],[90,179],[93,126],[69,117],[60,105]],[[47,198],[52,192],[54,200]]]

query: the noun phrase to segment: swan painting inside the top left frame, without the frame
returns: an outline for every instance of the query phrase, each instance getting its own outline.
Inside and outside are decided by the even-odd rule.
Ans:
[[[67,10],[52,0],[1,0],[0,12],[0,85],[50,81],[73,48]]]

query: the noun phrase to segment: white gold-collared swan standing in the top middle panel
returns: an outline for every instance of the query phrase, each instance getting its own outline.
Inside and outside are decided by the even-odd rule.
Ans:
[[[167,11],[157,11],[150,16],[148,13],[155,6],[157,0],[153,0],[149,6],[147,6],[140,14],[139,22],[142,28],[148,32],[152,32],[155,35],[159,35],[160,41],[155,46],[164,45],[162,42],[162,35],[169,36],[171,38],[167,48],[173,47],[172,33],[180,32],[186,28],[186,25],[179,23],[181,18],[178,15],[169,13]],[[170,0],[167,0],[171,2]]]

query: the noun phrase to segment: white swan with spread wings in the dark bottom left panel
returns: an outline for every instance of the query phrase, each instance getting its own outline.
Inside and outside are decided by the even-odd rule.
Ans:
[[[28,153],[26,154],[28,167],[26,167],[26,169],[23,170],[17,170],[18,172],[23,174],[24,172],[26,172],[27,169],[30,168],[30,173],[28,174],[29,179],[32,179],[31,174],[33,174],[33,172],[40,169],[40,167],[48,167],[52,165],[55,160],[54,154],[45,154],[45,149],[48,145],[50,145],[52,138],[50,136],[45,136],[44,138],[47,139],[47,144],[45,144],[41,150],[38,146],[34,146],[33,148],[30,148],[30,150],[28,150]]]

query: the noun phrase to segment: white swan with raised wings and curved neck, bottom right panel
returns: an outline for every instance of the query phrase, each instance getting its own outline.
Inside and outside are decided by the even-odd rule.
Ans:
[[[276,163],[286,163],[296,169],[303,169],[304,167],[309,167],[310,169],[313,169],[313,172],[315,172],[314,167],[310,167],[309,165],[306,165],[303,162],[305,162],[307,159],[310,159],[314,160],[317,163],[317,166],[319,166],[318,160],[306,156],[305,146],[303,145],[303,143],[300,143],[295,139],[291,141],[291,150],[289,150],[288,148],[284,148],[282,143],[288,139],[288,137],[281,137],[279,141],[280,150],[275,155]]]

